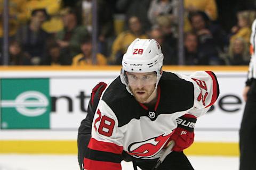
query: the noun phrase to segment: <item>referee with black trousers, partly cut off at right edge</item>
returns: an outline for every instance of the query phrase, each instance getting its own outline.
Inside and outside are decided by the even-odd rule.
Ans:
[[[239,131],[239,170],[256,169],[256,19],[252,24],[251,61],[243,97],[246,101]]]

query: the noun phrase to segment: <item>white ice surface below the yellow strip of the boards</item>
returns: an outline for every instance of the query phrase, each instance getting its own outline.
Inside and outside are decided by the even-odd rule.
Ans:
[[[238,157],[188,156],[195,170],[237,170]],[[0,170],[78,170],[76,155],[0,154]],[[123,170],[132,170],[122,162]],[[171,167],[170,167],[171,169]],[[178,169],[175,169],[178,170]]]

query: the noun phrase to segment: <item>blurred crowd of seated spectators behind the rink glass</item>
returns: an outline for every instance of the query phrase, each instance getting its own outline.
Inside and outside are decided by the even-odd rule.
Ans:
[[[98,0],[97,30],[92,26],[95,18],[90,0],[11,0],[9,6],[9,65],[121,65],[135,38],[154,38],[162,47],[164,65],[178,65],[178,0]],[[185,0],[184,8],[185,65],[250,62],[254,10],[237,11],[237,24],[227,31],[217,20],[214,0]],[[118,15],[114,15],[116,11]],[[2,14],[0,9],[1,47]],[[97,47],[92,43],[94,31]],[[95,58],[93,51],[97,51]]]

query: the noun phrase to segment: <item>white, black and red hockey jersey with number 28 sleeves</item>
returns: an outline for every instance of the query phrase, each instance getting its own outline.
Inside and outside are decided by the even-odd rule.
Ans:
[[[190,76],[163,72],[152,108],[138,103],[120,78],[103,92],[96,109],[84,168],[122,169],[121,154],[139,159],[161,157],[164,146],[185,114],[199,117],[219,96],[217,78],[211,71]]]

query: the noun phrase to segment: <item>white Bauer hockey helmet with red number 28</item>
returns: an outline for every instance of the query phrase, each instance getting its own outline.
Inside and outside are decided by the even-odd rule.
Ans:
[[[126,85],[127,91],[131,93],[129,82],[125,72],[147,73],[156,72],[157,84],[162,76],[164,56],[162,54],[161,46],[154,39],[135,39],[128,47],[127,52],[123,56],[121,81]],[[132,94],[133,95],[133,94]]]

